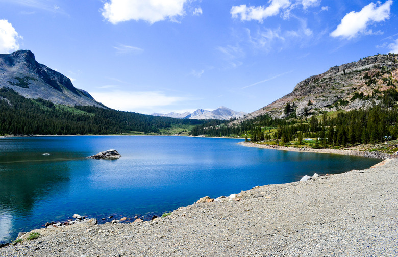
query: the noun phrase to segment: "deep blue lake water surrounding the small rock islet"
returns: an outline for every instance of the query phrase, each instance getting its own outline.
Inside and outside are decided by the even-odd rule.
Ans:
[[[0,243],[77,213],[151,218],[304,175],[368,168],[380,160],[237,145],[240,139],[50,136],[0,139]],[[85,157],[116,149],[118,160]],[[49,153],[49,155],[43,155]],[[109,219],[107,221],[110,221]]]

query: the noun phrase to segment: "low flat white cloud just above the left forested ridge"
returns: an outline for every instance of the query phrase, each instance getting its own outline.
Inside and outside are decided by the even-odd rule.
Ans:
[[[95,100],[116,110],[142,112],[142,110],[155,110],[157,107],[176,104],[189,100],[187,97],[168,96],[161,91],[101,91],[90,92]],[[151,111],[147,112],[151,113]]]

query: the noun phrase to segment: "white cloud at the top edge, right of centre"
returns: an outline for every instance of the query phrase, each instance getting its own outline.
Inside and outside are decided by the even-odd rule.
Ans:
[[[265,6],[249,6],[240,5],[232,6],[231,15],[232,18],[239,18],[241,21],[257,20],[258,22],[263,22],[270,16],[278,15],[281,10],[290,7],[291,3],[289,0],[270,0],[270,5]]]

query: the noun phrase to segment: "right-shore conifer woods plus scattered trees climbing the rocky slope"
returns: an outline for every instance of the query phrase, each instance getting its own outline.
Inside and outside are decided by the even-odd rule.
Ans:
[[[395,57],[395,56],[394,56]],[[365,73],[367,76],[368,73]],[[367,77],[369,79],[370,77]],[[367,101],[366,108],[344,110],[318,110],[316,113],[304,111],[296,115],[296,108],[287,102],[282,108],[283,118],[275,118],[265,113],[240,122],[212,121],[191,130],[191,135],[247,137],[251,141],[264,141],[268,144],[303,145],[303,138],[312,138],[313,147],[333,147],[381,141],[398,138],[398,91],[395,80],[390,80],[383,91],[374,94],[354,93],[350,101]],[[347,104],[340,99],[339,105]],[[307,105],[311,106],[308,101]]]

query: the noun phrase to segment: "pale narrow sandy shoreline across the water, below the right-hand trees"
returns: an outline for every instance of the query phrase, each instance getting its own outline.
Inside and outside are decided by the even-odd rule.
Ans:
[[[275,145],[263,145],[251,142],[239,142],[239,145],[246,147],[255,147],[262,149],[272,149],[272,150],[282,150],[282,151],[295,151],[295,152],[313,152],[313,153],[328,153],[332,155],[351,155],[351,156],[361,156],[366,158],[376,158],[376,159],[387,159],[387,158],[398,158],[398,155],[390,155],[388,153],[380,151],[361,151],[356,149],[313,149],[309,147],[299,148],[299,147],[289,147],[289,146],[275,146]]]

